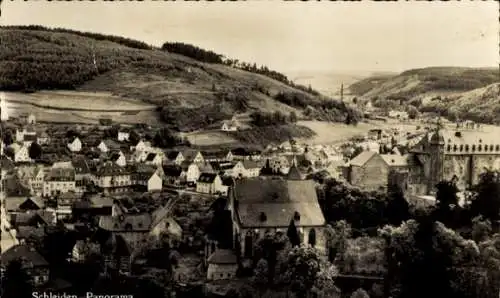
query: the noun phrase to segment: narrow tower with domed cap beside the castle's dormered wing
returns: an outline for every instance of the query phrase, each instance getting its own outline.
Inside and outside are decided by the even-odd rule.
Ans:
[[[427,193],[433,194],[436,185],[444,179],[444,136],[441,119],[438,120],[436,131],[429,141],[429,179],[427,180]]]

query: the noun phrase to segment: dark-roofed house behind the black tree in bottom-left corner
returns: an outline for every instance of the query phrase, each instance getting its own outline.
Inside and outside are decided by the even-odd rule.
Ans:
[[[6,270],[12,261],[21,261],[22,268],[26,270],[34,287],[43,286],[49,281],[49,263],[35,248],[22,244],[9,248],[2,253],[0,266]]]

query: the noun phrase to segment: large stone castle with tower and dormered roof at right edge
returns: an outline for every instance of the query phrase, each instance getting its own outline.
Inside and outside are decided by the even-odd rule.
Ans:
[[[433,194],[442,180],[455,179],[460,190],[478,182],[480,174],[500,170],[500,130],[483,130],[478,125],[457,125],[427,133],[410,149],[407,190]]]

